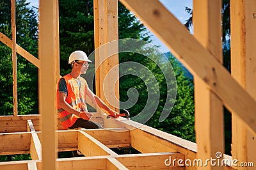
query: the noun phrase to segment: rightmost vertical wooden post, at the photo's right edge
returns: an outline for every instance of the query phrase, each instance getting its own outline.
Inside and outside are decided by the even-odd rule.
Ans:
[[[255,1],[230,1],[231,73],[256,98],[255,91]],[[254,87],[253,87],[254,86]],[[232,114],[232,157],[239,162],[255,161],[255,136],[244,121]],[[240,167],[246,169],[246,167]]]

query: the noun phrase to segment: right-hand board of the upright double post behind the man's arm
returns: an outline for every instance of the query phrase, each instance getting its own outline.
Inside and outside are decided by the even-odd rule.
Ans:
[[[106,55],[111,56],[104,62],[106,82],[102,84],[106,100],[115,108],[119,108],[119,69],[118,69],[118,1],[106,1]],[[111,70],[113,69],[113,70]],[[106,84],[106,85],[105,85]],[[114,89],[114,90],[113,90]]]

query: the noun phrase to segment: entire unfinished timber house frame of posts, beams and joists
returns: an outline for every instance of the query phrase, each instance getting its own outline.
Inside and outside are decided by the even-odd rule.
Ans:
[[[15,8],[13,8],[15,3],[12,1],[13,41],[2,33],[0,33],[0,40],[13,49],[13,77],[15,77],[15,55],[17,52],[40,68],[39,101],[41,116],[18,116],[15,114],[17,111],[15,107],[13,111],[15,116],[0,116],[0,155],[30,153],[33,158],[33,160],[18,162],[0,162],[0,168],[196,169],[196,167],[166,167],[164,161],[168,157],[182,160],[208,158],[212,157],[216,150],[223,152],[223,112],[220,109],[222,105],[230,109],[233,112],[232,116],[234,116],[233,158],[238,158],[239,161],[245,162],[255,161],[253,160],[255,157],[253,154],[256,151],[255,141],[253,140],[256,132],[256,116],[254,114],[256,110],[256,91],[254,88],[256,81],[252,81],[255,78],[254,68],[256,64],[255,48],[252,46],[256,36],[254,31],[255,1],[234,0],[230,5],[232,69],[234,69],[232,70],[232,75],[234,77],[231,77],[221,65],[221,20],[220,11],[218,11],[218,9],[220,10],[220,1],[209,0],[204,1],[204,3],[202,1],[194,1],[196,10],[194,13],[195,36],[190,35],[187,29],[159,1],[120,1],[141,19],[143,24],[148,26],[153,33],[159,36],[182,64],[197,77],[196,89],[197,91],[198,89],[203,89],[204,92],[196,92],[196,96],[202,98],[204,96],[201,93],[207,93],[206,100],[200,99],[196,102],[197,107],[202,107],[201,105],[204,105],[204,102],[207,101],[207,114],[203,115],[204,111],[196,112],[197,121],[199,122],[196,124],[198,126],[196,127],[198,132],[196,142],[198,145],[131,120],[122,118],[118,120],[107,119],[106,115],[102,113],[96,113],[93,120],[102,123],[104,129],[57,130],[54,101],[56,82],[60,75],[58,70],[58,0],[40,1],[40,45],[38,46],[40,59],[33,57],[15,42],[15,13],[13,12],[15,11]],[[209,8],[210,3],[211,8]],[[205,6],[202,7],[204,4]],[[104,43],[118,39],[116,5],[117,1],[114,0],[94,1],[96,48]],[[205,11],[202,10],[201,12],[206,13],[206,15],[200,14],[200,8],[204,8]],[[237,17],[238,14],[236,12],[241,15]],[[212,18],[216,19],[218,24],[213,24]],[[200,20],[204,20],[204,23],[207,24],[205,26],[198,25]],[[201,27],[206,27],[207,29],[202,34],[198,34]],[[99,53],[103,52],[102,54],[108,56],[108,54],[112,54],[111,52],[117,50],[118,48],[111,50],[106,48],[100,50]],[[46,56],[50,57],[46,58]],[[95,56],[96,66],[99,66],[105,58],[100,58],[99,54],[95,54]],[[116,62],[118,61],[118,56],[112,59],[106,60],[106,65],[111,64],[110,68],[118,65],[118,62]],[[243,65],[244,63],[246,65]],[[97,94],[99,95],[102,93],[104,77],[110,68],[100,68],[99,72],[96,72]],[[118,77],[117,71],[114,75],[115,79]],[[99,75],[102,77],[99,77]],[[114,82],[115,79],[113,79]],[[111,81],[107,83],[109,88],[111,88],[110,84],[113,84]],[[197,86],[198,84],[200,85]],[[118,89],[118,86],[115,86],[115,88]],[[13,91],[15,95],[15,85],[13,86]],[[117,94],[118,91],[115,91],[115,93]],[[106,101],[111,98],[111,95],[108,94],[106,98],[104,96],[100,97]],[[216,108],[216,105],[218,109],[212,110],[212,108]],[[204,121],[202,116],[205,116],[207,121]],[[214,118],[221,119],[221,122],[218,122],[218,128],[221,130],[220,134],[216,133],[218,130],[214,129],[217,122]],[[207,128],[204,131],[202,127]],[[236,130],[238,128],[242,129],[241,127],[243,128],[241,132]],[[27,130],[29,132],[26,132]],[[243,141],[238,140],[241,134],[244,135]],[[55,139],[55,142],[53,144],[47,143],[49,139]],[[10,144],[7,141],[12,141],[12,143]],[[92,146],[92,150],[86,148],[88,145]],[[132,147],[142,153],[118,155],[109,149],[115,147]],[[207,153],[204,153],[205,148],[208,151]],[[56,159],[56,151],[72,150],[81,150],[88,157]],[[229,160],[232,159],[232,157],[224,155],[224,158],[227,157]],[[214,169],[214,167],[207,167],[207,169]],[[235,167],[225,167],[225,169],[235,169]]]

